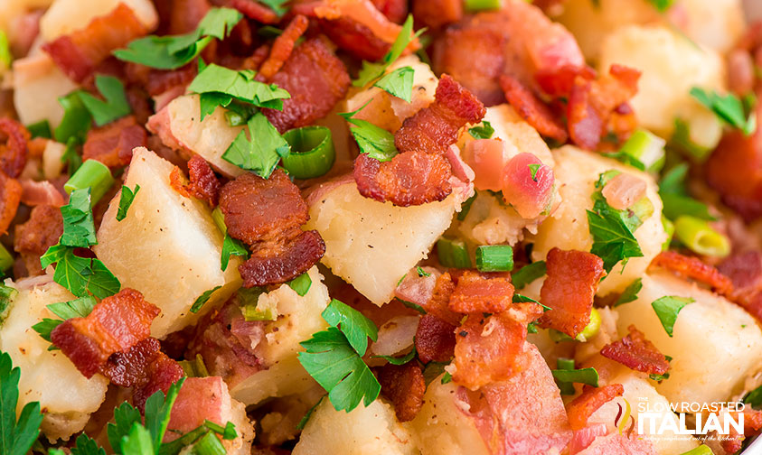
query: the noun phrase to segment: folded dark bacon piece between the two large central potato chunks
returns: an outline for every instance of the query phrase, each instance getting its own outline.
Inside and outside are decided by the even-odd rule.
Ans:
[[[305,273],[325,254],[317,231],[303,231],[305,200],[286,174],[268,180],[245,173],[220,191],[220,209],[230,237],[251,246],[239,271],[247,287],[284,283]]]

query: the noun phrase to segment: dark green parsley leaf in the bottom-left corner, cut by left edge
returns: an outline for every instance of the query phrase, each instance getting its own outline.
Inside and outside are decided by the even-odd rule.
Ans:
[[[16,420],[19,378],[21,369],[14,368],[11,356],[0,351],[0,453],[4,455],[26,455],[40,435],[38,402],[24,404]]]

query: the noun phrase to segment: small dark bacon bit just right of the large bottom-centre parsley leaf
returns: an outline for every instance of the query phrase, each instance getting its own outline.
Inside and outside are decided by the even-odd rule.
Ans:
[[[417,362],[404,365],[387,364],[378,368],[381,392],[394,404],[394,413],[400,422],[413,420],[423,406],[426,381]]]

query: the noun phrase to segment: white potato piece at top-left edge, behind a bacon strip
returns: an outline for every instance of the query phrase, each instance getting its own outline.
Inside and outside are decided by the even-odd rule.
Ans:
[[[55,0],[40,19],[40,36],[51,42],[59,36],[81,30],[96,17],[109,14],[119,4],[127,5],[137,20],[153,31],[159,22],[151,0]]]

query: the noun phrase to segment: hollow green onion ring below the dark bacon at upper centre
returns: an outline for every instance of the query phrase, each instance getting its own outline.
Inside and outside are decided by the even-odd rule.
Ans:
[[[336,161],[334,139],[325,126],[304,126],[284,133],[291,153],[283,157],[283,167],[297,179],[325,175]]]

